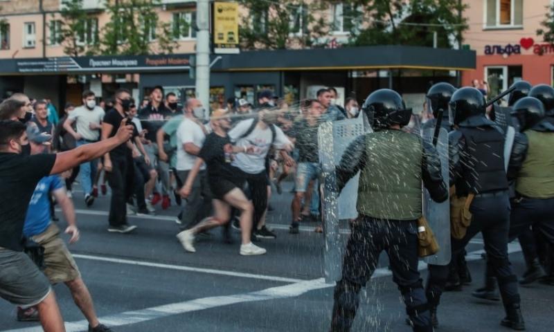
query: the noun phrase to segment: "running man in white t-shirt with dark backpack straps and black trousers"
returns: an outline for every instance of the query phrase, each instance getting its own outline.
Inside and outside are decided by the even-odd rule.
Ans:
[[[242,120],[229,131],[229,137],[238,147],[254,147],[253,154],[236,154],[231,165],[244,172],[252,203],[254,205],[253,234],[262,238],[275,238],[275,234],[265,228],[265,212],[269,175],[267,174],[267,154],[271,146],[284,151],[292,150],[292,142],[285,136],[283,130],[275,125],[278,113],[270,105],[258,112],[258,118]],[[290,158],[287,154],[281,154]]]

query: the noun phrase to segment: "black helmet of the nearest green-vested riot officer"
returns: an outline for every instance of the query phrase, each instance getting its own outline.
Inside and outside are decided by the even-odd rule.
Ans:
[[[374,128],[388,128],[393,124],[404,127],[411,118],[411,109],[406,109],[402,97],[391,89],[370,93],[362,109]]]

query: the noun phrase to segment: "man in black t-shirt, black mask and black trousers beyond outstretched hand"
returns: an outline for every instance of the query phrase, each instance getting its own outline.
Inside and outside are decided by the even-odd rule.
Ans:
[[[116,104],[109,110],[102,122],[102,140],[114,136],[122,121],[127,118],[131,108],[131,93],[127,89],[116,91]],[[124,120],[125,119],[125,120]],[[134,127],[136,135],[136,127]],[[127,201],[132,195],[134,179],[134,163],[132,142],[124,142],[104,156],[104,169],[107,172],[111,187],[111,202],[109,204],[108,232],[128,233],[136,229],[135,225],[127,223]]]

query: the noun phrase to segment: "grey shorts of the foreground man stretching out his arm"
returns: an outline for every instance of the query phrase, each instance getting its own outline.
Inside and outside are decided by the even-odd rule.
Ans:
[[[0,247],[0,297],[28,308],[44,301],[51,291],[48,279],[25,252]]]

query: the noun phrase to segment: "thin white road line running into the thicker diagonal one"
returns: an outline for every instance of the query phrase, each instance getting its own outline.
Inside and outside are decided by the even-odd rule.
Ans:
[[[208,274],[211,274],[211,275],[227,275],[229,277],[240,277],[240,278],[269,280],[271,282],[287,282],[287,283],[305,282],[305,280],[303,280],[303,279],[276,277],[276,276],[272,276],[272,275],[255,275],[253,273],[241,273],[241,272],[227,271],[227,270],[215,270],[213,268],[193,268],[191,266],[159,264],[159,263],[151,263],[149,261],[135,261],[135,260],[131,260],[131,259],[119,259],[119,258],[99,257],[99,256],[93,256],[93,255],[77,255],[77,254],[73,255],[73,257],[80,258],[80,259],[89,259],[91,261],[107,261],[107,262],[116,263],[116,264],[148,266],[150,268],[166,268],[168,270],[179,270],[179,271],[195,272],[195,273],[208,273]]]

